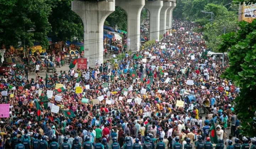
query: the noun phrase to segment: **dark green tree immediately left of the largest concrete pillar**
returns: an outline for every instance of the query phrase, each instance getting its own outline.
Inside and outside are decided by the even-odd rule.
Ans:
[[[52,0],[52,13],[49,16],[49,22],[52,32],[60,40],[72,41],[74,37],[77,37],[81,41],[84,39],[84,26],[81,18],[71,10],[71,1]]]

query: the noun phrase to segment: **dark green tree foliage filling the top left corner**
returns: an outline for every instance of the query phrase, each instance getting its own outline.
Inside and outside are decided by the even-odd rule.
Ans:
[[[46,37],[51,31],[48,16],[51,12],[50,0],[1,0],[1,44],[17,47],[18,42],[26,40],[27,45],[32,46],[37,41],[47,47],[49,43]]]

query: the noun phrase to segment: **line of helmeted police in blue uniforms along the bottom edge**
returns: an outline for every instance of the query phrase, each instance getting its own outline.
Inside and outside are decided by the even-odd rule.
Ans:
[[[98,142],[93,145],[90,142],[90,137],[85,136],[85,142],[81,145],[79,142],[79,137],[75,137],[72,145],[68,143],[68,137],[64,137],[64,143],[59,147],[57,143],[57,138],[53,137],[52,142],[48,146],[48,142],[46,141],[47,137],[42,136],[42,140],[38,140],[38,133],[35,133],[32,142],[30,141],[30,136],[25,134],[22,136],[21,139],[18,139],[17,133],[13,133],[13,137],[11,138],[10,146],[12,149],[109,149],[108,142],[106,138],[102,140],[99,139]],[[156,144],[156,149],[165,149],[165,143],[163,142],[162,137],[159,137],[159,142]],[[158,140],[153,138],[151,134],[145,137],[145,143],[143,145],[139,144],[139,139],[135,139],[135,144],[130,143],[130,138],[126,137],[126,143],[123,145],[123,149],[155,149],[154,142]],[[172,149],[182,149],[182,145],[179,143],[180,138],[175,137],[175,143],[172,144]],[[190,143],[191,139],[187,138],[184,149],[192,149],[192,144]],[[102,142],[102,144],[101,144]],[[231,140],[228,140],[228,146],[226,149],[249,149],[250,145],[248,144],[249,140],[247,138],[243,139],[243,144],[239,144],[239,139],[235,138],[235,144]],[[251,149],[256,149],[256,140],[254,138],[251,139],[252,145]],[[233,145],[232,145],[233,144]],[[48,148],[49,147],[49,148]],[[120,149],[119,143],[117,143],[117,137],[113,137],[113,143],[111,144],[110,149]],[[210,142],[210,138],[206,138],[206,143],[203,143],[202,136],[198,136],[198,141],[196,142],[196,149],[213,149],[213,144]],[[216,145],[215,149],[224,149],[223,140],[219,139],[218,144]]]

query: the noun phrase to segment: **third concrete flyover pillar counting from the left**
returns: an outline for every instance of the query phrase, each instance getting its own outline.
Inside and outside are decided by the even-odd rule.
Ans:
[[[160,31],[160,10],[163,6],[163,1],[145,1],[145,9],[150,13],[149,17],[149,40],[159,41]]]

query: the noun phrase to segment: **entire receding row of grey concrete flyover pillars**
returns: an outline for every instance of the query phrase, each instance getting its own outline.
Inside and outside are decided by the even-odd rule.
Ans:
[[[74,0],[72,11],[84,23],[84,53],[89,67],[103,63],[103,25],[115,11],[115,5],[127,13],[128,50],[136,52],[140,49],[140,13],[143,7],[150,13],[150,40],[159,40],[159,34],[166,32],[166,26],[172,28],[172,10],[176,7],[176,0]]]

